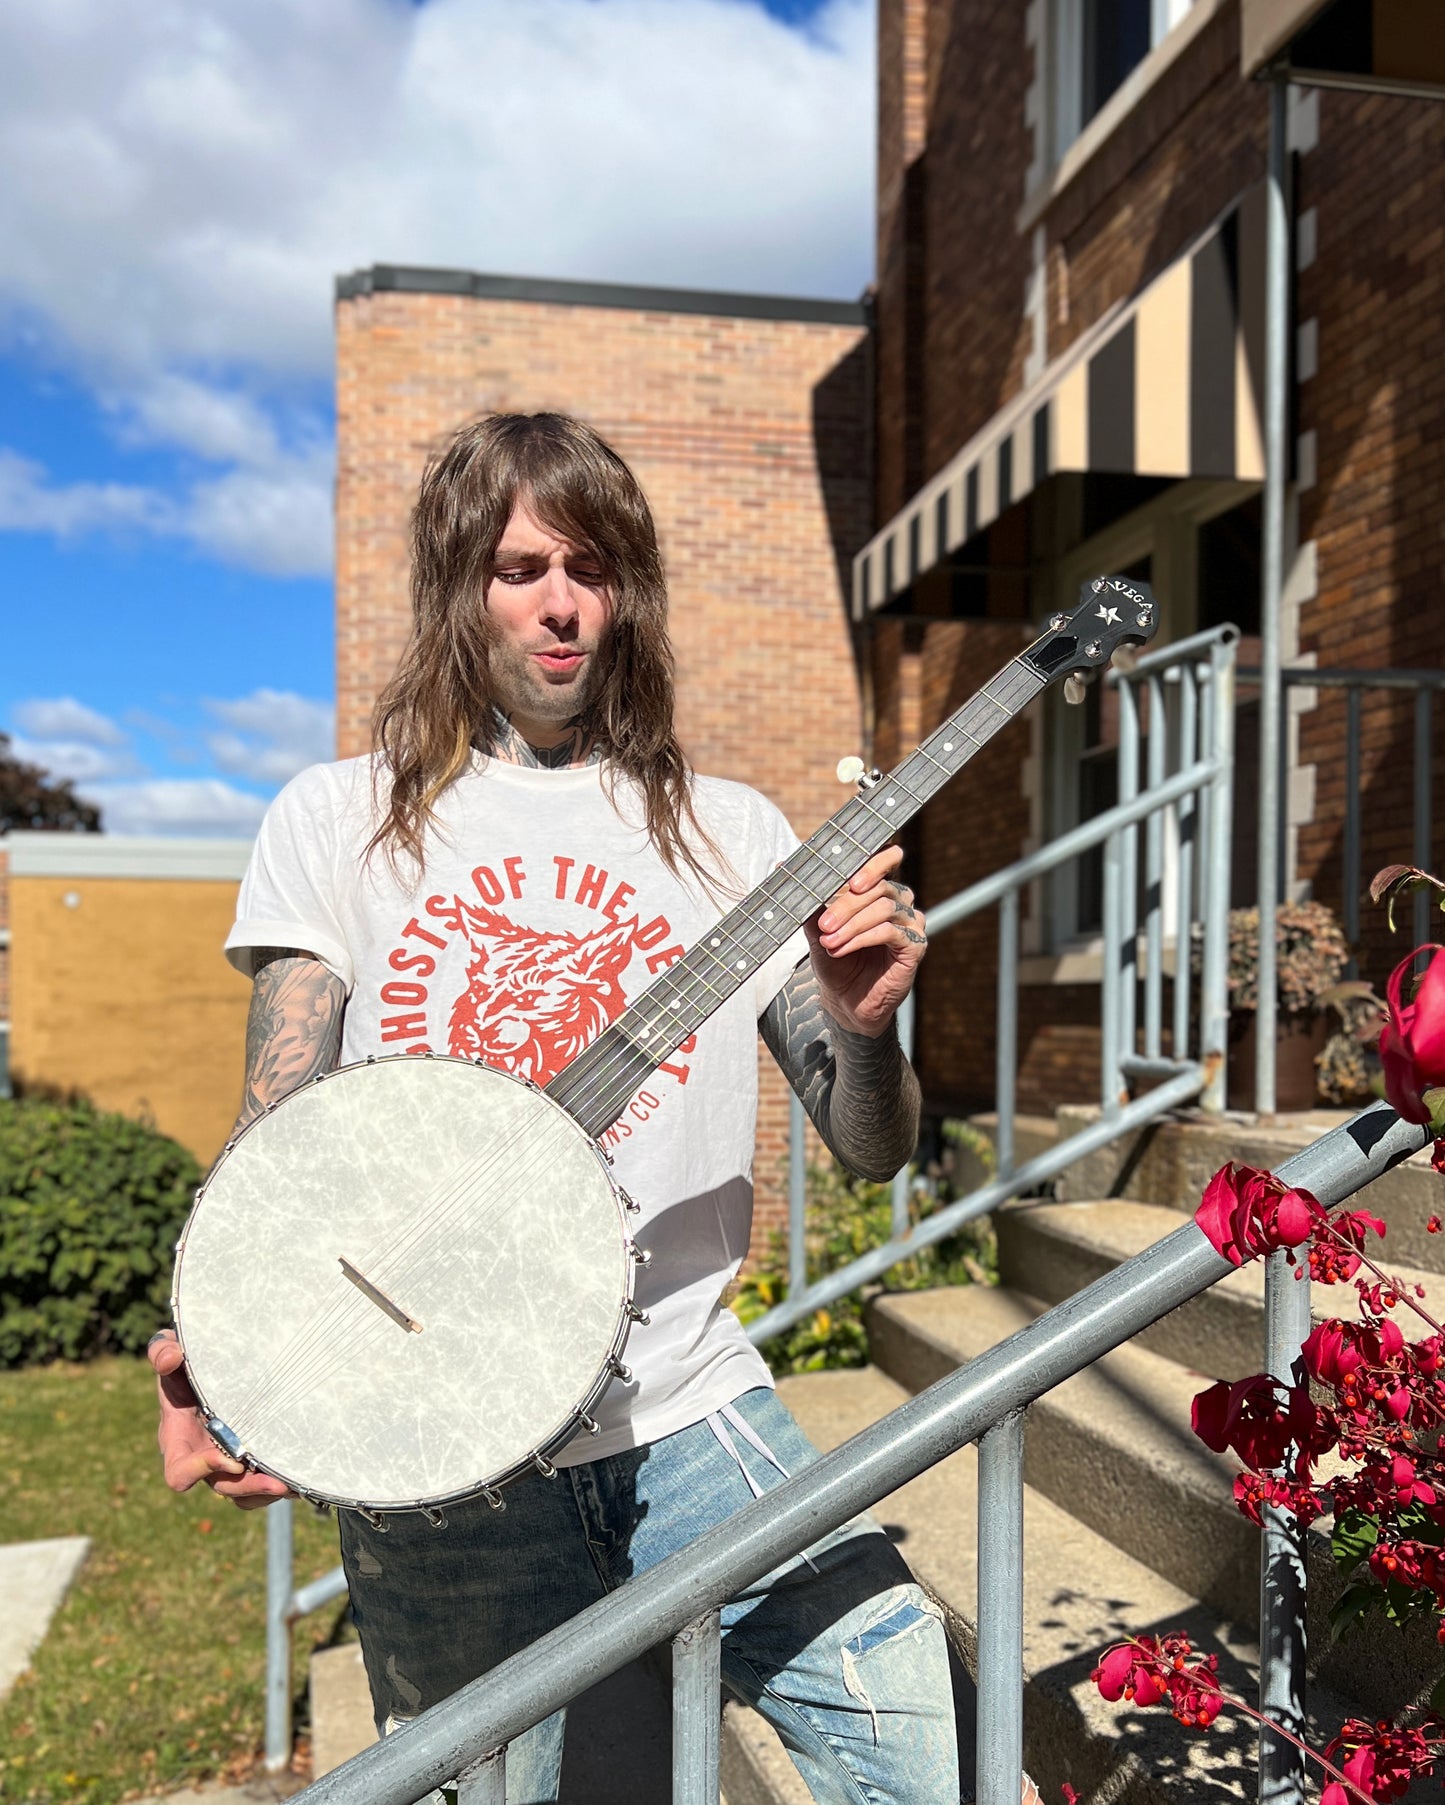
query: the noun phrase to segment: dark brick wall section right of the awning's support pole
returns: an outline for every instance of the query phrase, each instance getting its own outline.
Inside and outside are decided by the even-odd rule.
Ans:
[[[1301,161],[1297,206],[1315,208],[1319,253],[1297,314],[1319,321],[1319,375],[1299,388],[1317,478],[1301,536],[1317,542],[1319,596],[1302,650],[1333,666],[1440,670],[1445,646],[1445,108],[1380,96],[1319,96],[1319,144]],[[1317,765],[1302,875],[1342,902],[1344,700],[1321,695],[1301,720]],[[1445,796],[1445,702],[1434,708],[1434,818]],[[1414,863],[1413,706],[1376,691],[1362,711],[1362,879]],[[1432,865],[1445,845],[1434,836]],[[1411,910],[1387,933],[1362,904],[1364,975],[1384,978],[1409,948]],[[1440,931],[1440,922],[1431,930]]]

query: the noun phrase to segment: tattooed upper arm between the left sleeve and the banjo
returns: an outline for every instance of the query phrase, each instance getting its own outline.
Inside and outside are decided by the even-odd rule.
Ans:
[[[245,1090],[236,1128],[280,1103],[341,1052],[346,991],[319,958],[294,946],[258,946],[251,955],[251,1014],[245,1020]]]

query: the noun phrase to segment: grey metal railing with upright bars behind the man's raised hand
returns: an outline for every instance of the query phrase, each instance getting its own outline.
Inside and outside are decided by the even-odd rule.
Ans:
[[[938,937],[985,908],[999,908],[998,960],[998,1175],[943,1209],[909,1224],[907,1168],[893,1180],[893,1233],[848,1265],[805,1283],[806,1179],[803,1161],[803,1106],[794,1099],[788,1126],[788,1296],[747,1325],[754,1345],[770,1341],[814,1310],[859,1285],[871,1283],[924,1247],[953,1235],[972,1217],[996,1209],[1010,1197],[1057,1177],[1084,1153],[1142,1128],[1182,1103],[1200,1097],[1218,1112],[1225,1101],[1227,948],[1229,948],[1229,838],[1234,776],[1234,650],[1239,628],[1210,626],[1176,644],[1162,646],[1133,666],[1111,670],[1120,693],[1120,800],[1104,814],[1081,821],[1037,852],[980,879],[927,912],[929,935]],[[1167,706],[1164,684],[1178,682],[1180,765],[1165,773]],[[1149,769],[1140,785],[1138,690],[1149,702]],[[1194,753],[1200,756],[1192,756]],[[1185,762],[1187,760],[1187,762]],[[1164,1054],[1164,821],[1174,818],[1180,841],[1174,937],[1191,946],[1201,917],[1200,1051],[1189,1058],[1191,980],[1183,951],[1176,958],[1173,1058]],[[1137,839],[1146,832],[1144,1058],[1137,1051],[1137,987],[1140,980],[1137,921]],[[1019,895],[1039,879],[1093,848],[1104,848],[1104,949],[1100,962],[1100,1121],[1079,1130],[1050,1152],[1014,1168],[1014,1094],[1017,1063]],[[1198,865],[1194,850],[1207,854]],[[911,1052],[913,1016],[900,1020],[904,1051]],[[1129,1078],[1162,1079],[1142,1097],[1129,1099]]]

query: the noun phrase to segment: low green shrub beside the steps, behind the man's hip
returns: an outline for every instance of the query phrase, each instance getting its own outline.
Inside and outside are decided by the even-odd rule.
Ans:
[[[994,1148],[974,1126],[943,1123],[943,1161],[909,1188],[909,1222],[922,1222],[936,1209],[967,1193],[974,1180],[954,1179],[967,1162],[992,1171]],[[893,1186],[855,1179],[841,1166],[810,1166],[806,1195],[806,1278],[814,1283],[835,1273],[859,1254],[882,1247],[893,1238]],[[819,1372],[833,1366],[868,1365],[868,1330],[862,1310],[880,1291],[925,1291],[933,1285],[990,1285],[998,1278],[994,1231],[989,1217],[965,1222],[931,1247],[920,1247],[911,1260],[889,1267],[882,1280],[850,1291],[805,1316],[769,1341],[763,1359],[778,1374]],[[769,1253],[754,1273],[738,1285],[732,1310],[741,1323],[752,1323],[788,1296],[788,1242],[778,1231],[769,1238]]]

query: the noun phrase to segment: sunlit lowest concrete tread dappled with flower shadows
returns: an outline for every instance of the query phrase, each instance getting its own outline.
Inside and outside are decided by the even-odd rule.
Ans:
[[[900,1384],[871,1368],[785,1379],[779,1393],[821,1448],[859,1433],[906,1397]],[[965,1448],[875,1509],[942,1605],[971,1668],[978,1641],[976,1473],[974,1449]],[[1256,1733],[1238,1713],[1225,1713],[1200,1736],[1158,1709],[1106,1704],[1090,1680],[1109,1643],[1180,1628],[1198,1648],[1218,1653],[1225,1688],[1248,1699],[1257,1661],[1248,1639],[1034,1486],[1025,1487],[1023,1541],[1025,1762],[1045,1798],[1059,1798],[1068,1780],[1109,1805],[1252,1800]],[[1312,1695],[1317,1745],[1342,1715],[1324,1689]]]

